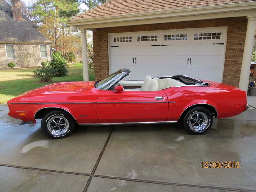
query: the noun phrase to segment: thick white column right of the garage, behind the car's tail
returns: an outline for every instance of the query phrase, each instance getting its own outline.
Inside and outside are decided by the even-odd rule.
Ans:
[[[241,68],[241,75],[239,81],[239,88],[245,90],[247,93],[248,90],[248,80],[250,75],[250,66],[251,66],[251,55],[255,34],[255,25],[256,25],[256,16],[247,16],[248,23],[246,29],[246,37],[244,43],[244,53],[243,61]]]

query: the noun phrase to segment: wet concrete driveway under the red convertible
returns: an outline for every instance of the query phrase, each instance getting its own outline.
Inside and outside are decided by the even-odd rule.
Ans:
[[[204,135],[176,124],[87,126],[59,140],[7,112],[0,105],[1,192],[256,191],[253,107]]]

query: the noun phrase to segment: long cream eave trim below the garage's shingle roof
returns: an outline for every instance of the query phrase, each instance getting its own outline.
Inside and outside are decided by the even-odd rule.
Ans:
[[[200,6],[200,7],[189,7],[189,8],[180,8],[180,9],[171,9],[171,10],[160,10],[160,11],[150,11],[143,13],[134,13],[134,14],[125,14],[125,15],[117,15],[110,17],[100,17],[100,18],[88,18],[88,19],[79,19],[79,20],[69,20],[66,21],[67,24],[73,26],[84,26],[87,28],[97,28],[97,24],[100,24],[100,27],[114,27],[111,26],[110,23],[118,23],[118,22],[129,22],[129,21],[138,21],[138,20],[146,20],[151,19],[152,23],[154,19],[158,18],[170,18],[170,17],[186,17],[193,15],[205,15],[211,14],[212,18],[215,18],[215,14],[212,13],[225,13],[225,12],[234,12],[234,11],[242,11],[256,9],[256,1],[249,2],[240,2],[240,3],[229,3],[229,4],[220,4],[220,5],[211,5],[211,6]],[[238,13],[238,12],[236,12]],[[248,12],[243,14],[237,14],[239,16],[247,16],[248,14],[253,14],[254,12]],[[218,16],[219,17],[219,16]],[[207,19],[210,19],[208,17]],[[148,23],[147,23],[148,24]]]

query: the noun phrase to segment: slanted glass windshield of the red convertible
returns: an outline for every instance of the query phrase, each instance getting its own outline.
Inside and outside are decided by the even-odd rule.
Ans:
[[[115,73],[112,73],[110,76],[108,76],[106,79],[96,82],[94,87],[100,90],[106,90],[113,83],[117,83],[118,80],[121,80],[123,74],[124,73],[120,70],[116,71]]]

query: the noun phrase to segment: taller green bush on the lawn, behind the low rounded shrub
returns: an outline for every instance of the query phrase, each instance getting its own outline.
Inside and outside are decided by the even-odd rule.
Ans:
[[[49,65],[56,70],[56,76],[67,76],[67,61],[62,57],[60,51],[52,53],[52,60],[49,61]]]

